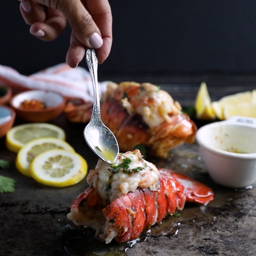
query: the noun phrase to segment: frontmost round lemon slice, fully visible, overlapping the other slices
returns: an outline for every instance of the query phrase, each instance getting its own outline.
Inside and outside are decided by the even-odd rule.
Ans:
[[[64,187],[74,185],[85,178],[87,163],[75,152],[52,149],[37,155],[29,169],[32,178],[38,183]]]

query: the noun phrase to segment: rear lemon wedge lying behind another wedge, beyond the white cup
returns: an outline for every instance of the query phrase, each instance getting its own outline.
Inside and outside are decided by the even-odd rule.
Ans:
[[[254,92],[254,93],[256,93],[256,92]],[[213,102],[213,110],[215,112],[215,115],[218,117],[218,119],[224,120],[225,117],[224,117],[223,110],[224,110],[225,106],[230,105],[230,107],[231,107],[231,106],[239,105],[239,104],[243,104],[243,103],[251,103],[251,102],[253,102],[253,97],[256,98],[256,95],[253,96],[253,93],[250,91],[239,92],[239,93],[236,93],[233,95],[225,96],[225,97],[221,98],[219,101]],[[228,109],[230,109],[230,107],[228,107]]]

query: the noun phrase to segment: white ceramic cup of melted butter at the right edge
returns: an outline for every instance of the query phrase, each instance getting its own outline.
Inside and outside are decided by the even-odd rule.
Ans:
[[[216,183],[245,188],[256,181],[256,119],[233,116],[205,125],[196,141]]]

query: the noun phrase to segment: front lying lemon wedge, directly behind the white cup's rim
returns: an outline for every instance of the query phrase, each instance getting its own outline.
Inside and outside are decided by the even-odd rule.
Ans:
[[[225,119],[228,119],[231,116],[256,117],[256,103],[225,105],[223,114]]]

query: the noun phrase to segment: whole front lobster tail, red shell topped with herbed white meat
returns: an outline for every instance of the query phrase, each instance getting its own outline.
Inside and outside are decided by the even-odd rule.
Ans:
[[[127,242],[182,210],[185,201],[207,204],[213,191],[188,176],[168,169],[156,169],[139,150],[121,153],[115,165],[99,160],[87,176],[90,187],[79,195],[67,215],[76,225],[96,230],[110,243]]]

